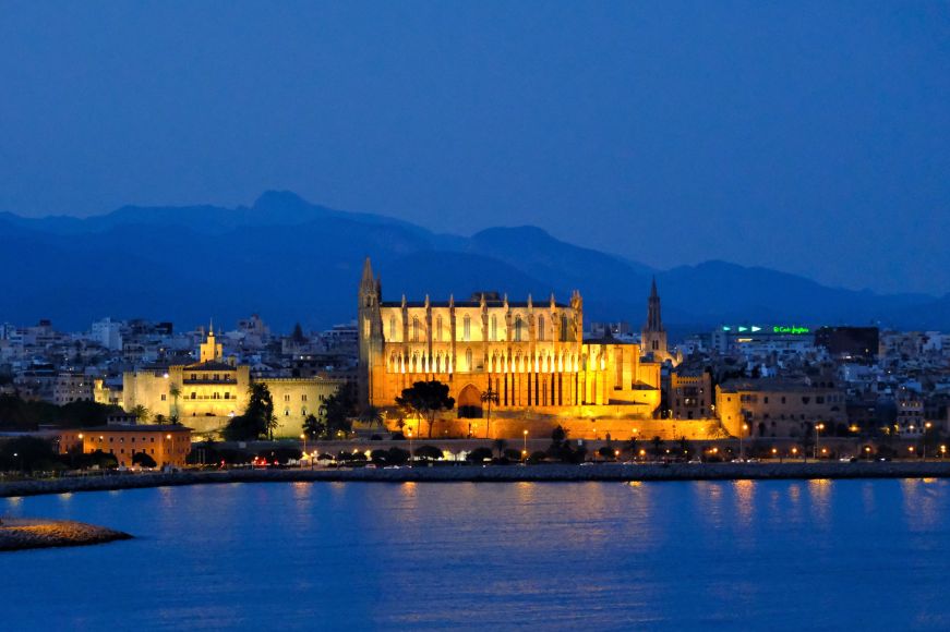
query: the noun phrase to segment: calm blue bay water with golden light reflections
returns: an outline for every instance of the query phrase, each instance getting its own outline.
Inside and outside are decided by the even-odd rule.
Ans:
[[[287,629],[693,630],[820,613],[825,629],[950,629],[948,502],[942,481],[245,484],[7,499],[3,513],[137,537],[0,556],[4,571],[15,562],[0,573],[3,627],[252,629],[277,612]],[[76,582],[89,568],[97,581]]]

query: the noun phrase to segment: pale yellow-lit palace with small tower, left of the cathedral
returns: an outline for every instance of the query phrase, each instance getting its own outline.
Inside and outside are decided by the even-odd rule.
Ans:
[[[144,406],[149,415],[177,417],[196,434],[221,430],[235,415],[248,405],[251,385],[248,365],[225,362],[221,344],[215,339],[214,327],[200,345],[199,362],[167,368],[127,372],[122,375],[122,392],[112,393],[97,380],[96,401],[121,401],[125,411]],[[297,437],[308,415],[322,415],[323,402],[336,392],[340,380],[322,377],[258,379],[267,385],[277,417],[277,437]]]

